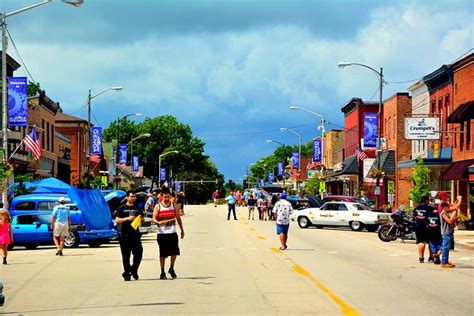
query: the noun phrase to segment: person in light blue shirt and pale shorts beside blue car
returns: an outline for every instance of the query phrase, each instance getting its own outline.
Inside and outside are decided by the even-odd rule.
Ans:
[[[60,197],[58,199],[59,205],[53,209],[51,216],[51,230],[53,231],[53,241],[56,245],[56,256],[63,255],[64,239],[71,231],[71,214],[69,208],[64,205],[66,199]]]

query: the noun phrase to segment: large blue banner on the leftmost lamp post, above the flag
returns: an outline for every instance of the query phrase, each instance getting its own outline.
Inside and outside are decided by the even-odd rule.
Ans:
[[[26,77],[8,78],[8,116],[10,126],[28,125],[28,82]]]

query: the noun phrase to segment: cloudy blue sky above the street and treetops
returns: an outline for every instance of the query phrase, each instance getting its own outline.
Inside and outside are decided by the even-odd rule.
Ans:
[[[64,112],[107,127],[118,117],[173,115],[205,143],[227,180],[270,155],[275,143],[296,145],[343,127],[351,98],[378,100],[407,87],[474,47],[474,2],[304,0],[59,0],[8,17],[25,67]],[[2,0],[11,12],[35,3]],[[10,42],[8,53],[20,61]],[[143,117],[133,118],[141,122]],[[157,153],[157,156],[160,153]]]

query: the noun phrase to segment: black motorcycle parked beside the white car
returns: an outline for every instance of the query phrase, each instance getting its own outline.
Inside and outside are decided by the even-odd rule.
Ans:
[[[389,242],[400,238],[402,240],[414,240],[415,222],[412,221],[408,214],[403,210],[397,210],[390,214],[390,222],[380,225],[379,239]]]

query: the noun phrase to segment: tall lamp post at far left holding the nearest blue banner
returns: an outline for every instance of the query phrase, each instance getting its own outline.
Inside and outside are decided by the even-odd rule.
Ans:
[[[8,37],[7,37],[7,18],[13,15],[20,14],[22,12],[34,9],[36,7],[42,6],[44,4],[50,3],[52,0],[44,0],[42,2],[18,9],[12,12],[2,12],[1,13],[1,23],[2,23],[2,150],[3,150],[3,159],[8,159],[8,104],[7,104],[7,47],[8,47]],[[71,4],[75,7],[80,6],[84,1],[83,0],[69,0],[64,1],[64,3]],[[7,191],[5,190],[2,194],[2,201],[7,202]],[[6,204],[5,204],[6,206]]]

